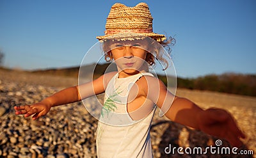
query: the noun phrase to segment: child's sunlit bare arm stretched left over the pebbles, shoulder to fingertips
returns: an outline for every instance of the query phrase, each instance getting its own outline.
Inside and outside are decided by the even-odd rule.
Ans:
[[[32,119],[36,120],[40,116],[46,115],[50,111],[51,107],[77,102],[81,99],[104,92],[104,85],[108,82],[109,76],[111,76],[110,73],[102,75],[90,83],[72,86],[58,91],[36,104],[15,106],[15,114],[24,115],[25,117],[33,115]]]

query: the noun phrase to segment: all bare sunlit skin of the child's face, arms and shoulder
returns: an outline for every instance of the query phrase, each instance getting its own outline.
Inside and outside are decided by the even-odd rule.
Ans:
[[[148,52],[136,47],[138,43],[130,44],[132,45],[122,45],[122,43],[111,45],[113,48],[111,53],[118,72],[109,72],[90,83],[66,88],[36,104],[15,106],[15,113],[25,117],[33,115],[32,118],[35,120],[46,115],[51,107],[77,102],[103,93],[116,73],[118,77],[129,77],[147,71],[144,65]],[[131,88],[127,111],[133,120],[140,120],[152,111],[155,104],[163,109],[165,116],[170,120],[227,139],[233,146],[242,145],[240,138],[245,138],[234,118],[227,111],[215,108],[204,110],[188,99],[173,96],[163,82],[156,77],[143,76]]]

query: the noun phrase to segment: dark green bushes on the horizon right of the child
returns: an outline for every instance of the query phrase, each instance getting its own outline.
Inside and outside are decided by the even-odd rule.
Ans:
[[[226,73],[205,75],[195,79],[178,78],[177,83],[178,88],[256,96],[256,75],[253,74]]]

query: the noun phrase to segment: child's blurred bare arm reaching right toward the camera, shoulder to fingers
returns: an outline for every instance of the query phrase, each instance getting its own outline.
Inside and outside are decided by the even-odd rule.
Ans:
[[[158,85],[148,84],[148,91],[150,89],[153,90],[153,93],[148,93],[148,97],[156,100],[155,103],[163,109],[167,118],[174,122],[202,130],[212,136],[227,139],[233,146],[242,145],[239,138],[245,138],[245,136],[237,127],[230,113],[224,109],[216,108],[204,110],[188,99],[174,96],[161,81],[157,82]],[[157,99],[155,97],[156,90],[159,90]]]

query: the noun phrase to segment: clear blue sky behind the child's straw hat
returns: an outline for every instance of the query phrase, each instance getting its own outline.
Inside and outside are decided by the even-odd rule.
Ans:
[[[75,67],[104,34],[116,3],[141,1],[0,0],[4,66],[33,70]],[[174,36],[180,77],[236,72],[256,74],[256,1],[143,1],[156,33]]]

